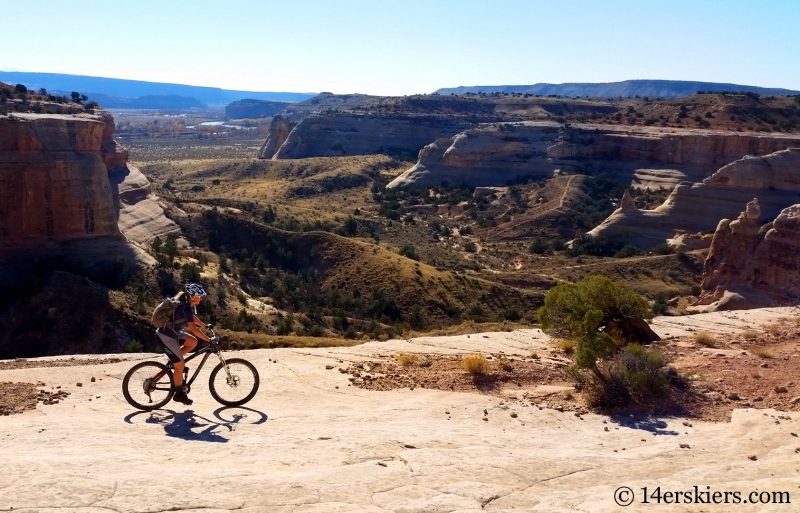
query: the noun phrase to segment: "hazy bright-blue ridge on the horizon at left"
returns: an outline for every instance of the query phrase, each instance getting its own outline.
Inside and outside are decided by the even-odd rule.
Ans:
[[[236,91],[218,87],[21,71],[0,71],[0,82],[24,84],[28,89],[34,90],[43,87],[58,93],[78,91],[108,108],[185,109],[227,105],[245,98],[300,102],[316,96],[316,93]]]

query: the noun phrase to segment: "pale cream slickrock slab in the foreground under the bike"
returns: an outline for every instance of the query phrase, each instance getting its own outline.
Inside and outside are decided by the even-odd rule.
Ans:
[[[714,315],[655,328],[664,335],[692,323],[738,322],[708,317]],[[756,317],[746,322],[755,325]],[[491,395],[370,391],[326,370],[415,350],[458,354],[480,346],[522,355],[547,343],[537,330],[486,335],[231,351],[261,374],[259,393],[242,408],[214,402],[207,385],[212,365],[206,365],[192,387],[192,406],[173,402],[137,412],[122,397],[121,379],[136,361],[160,355],[0,370],[0,381],[42,382],[70,393],[58,404],[0,416],[0,511],[611,512],[621,510],[614,502],[620,486],[635,493],[695,485],[742,495],[789,491],[792,502],[800,500],[794,412],[743,408],[730,423],[578,418],[536,407],[512,417]],[[638,499],[625,511],[699,510]],[[735,510],[770,507],[780,508],[738,504]]]

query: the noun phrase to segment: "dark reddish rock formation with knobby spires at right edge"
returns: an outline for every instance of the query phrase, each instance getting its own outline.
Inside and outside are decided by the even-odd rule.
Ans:
[[[723,219],[714,232],[703,267],[704,310],[768,306],[800,299],[800,205],[759,226],[759,204]]]

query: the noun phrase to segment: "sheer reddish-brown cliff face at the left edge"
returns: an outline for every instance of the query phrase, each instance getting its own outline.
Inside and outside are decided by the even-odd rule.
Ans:
[[[89,115],[0,117],[0,247],[119,236],[105,126]]]

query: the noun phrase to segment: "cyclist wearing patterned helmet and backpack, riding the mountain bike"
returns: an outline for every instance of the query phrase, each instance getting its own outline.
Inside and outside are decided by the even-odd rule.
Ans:
[[[158,340],[175,369],[173,374],[175,396],[172,399],[186,405],[192,404],[192,400],[187,396],[183,383],[183,357],[197,347],[198,338],[205,342],[209,341],[209,338],[200,331],[200,328],[205,328],[206,325],[197,317],[197,305],[205,296],[206,291],[202,286],[197,283],[187,283],[183,292],[179,292],[174,298],[179,304],[172,315],[171,326],[156,330]],[[186,331],[186,328],[189,331]]]

